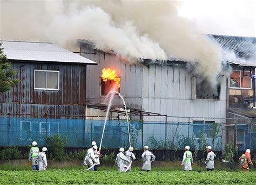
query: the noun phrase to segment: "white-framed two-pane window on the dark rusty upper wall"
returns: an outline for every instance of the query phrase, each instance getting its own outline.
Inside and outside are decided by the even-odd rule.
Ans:
[[[34,87],[39,90],[59,90],[59,71],[35,70]]]

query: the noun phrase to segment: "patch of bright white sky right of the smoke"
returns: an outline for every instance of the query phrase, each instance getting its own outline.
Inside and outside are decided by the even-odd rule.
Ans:
[[[190,19],[203,33],[256,37],[255,0],[178,2],[179,16]]]

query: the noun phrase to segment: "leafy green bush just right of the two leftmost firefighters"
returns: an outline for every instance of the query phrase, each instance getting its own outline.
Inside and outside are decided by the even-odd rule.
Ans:
[[[47,145],[51,146],[49,152],[51,152],[52,158],[56,160],[64,160],[64,146],[68,143],[68,138],[63,138],[60,136],[60,134],[55,134],[46,138],[45,140]]]

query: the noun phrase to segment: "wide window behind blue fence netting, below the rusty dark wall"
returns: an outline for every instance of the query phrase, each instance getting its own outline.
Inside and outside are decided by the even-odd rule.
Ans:
[[[58,122],[48,122],[47,135],[59,133]],[[21,140],[44,140],[46,134],[46,122],[21,121]],[[42,137],[41,137],[42,136]]]

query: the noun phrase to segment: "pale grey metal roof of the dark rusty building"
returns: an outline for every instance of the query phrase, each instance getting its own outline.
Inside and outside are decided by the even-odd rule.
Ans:
[[[65,62],[97,65],[96,62],[48,42],[0,40],[9,60]]]

